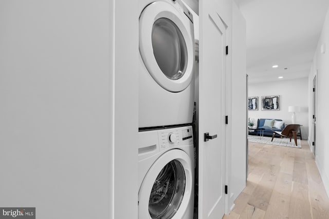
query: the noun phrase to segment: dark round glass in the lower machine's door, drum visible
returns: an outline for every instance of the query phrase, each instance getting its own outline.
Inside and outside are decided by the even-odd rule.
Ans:
[[[177,160],[158,174],[150,194],[149,213],[153,219],[170,219],[178,210],[186,185],[185,171]]]

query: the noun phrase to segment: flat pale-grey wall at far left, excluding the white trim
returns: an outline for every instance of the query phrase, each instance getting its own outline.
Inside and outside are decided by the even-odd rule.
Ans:
[[[0,8],[0,206],[108,217],[108,1]]]

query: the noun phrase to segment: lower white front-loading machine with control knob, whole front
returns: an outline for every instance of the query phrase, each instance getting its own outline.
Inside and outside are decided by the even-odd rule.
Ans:
[[[139,132],[138,219],[191,219],[192,126]]]

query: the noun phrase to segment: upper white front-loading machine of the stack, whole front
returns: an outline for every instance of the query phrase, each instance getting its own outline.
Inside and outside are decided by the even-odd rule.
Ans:
[[[179,0],[139,0],[139,128],[189,124],[193,17]]]

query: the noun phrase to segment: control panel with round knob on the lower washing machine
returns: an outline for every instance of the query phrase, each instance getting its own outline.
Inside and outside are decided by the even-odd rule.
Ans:
[[[192,127],[172,128],[158,131],[160,151],[173,146],[193,144]]]

